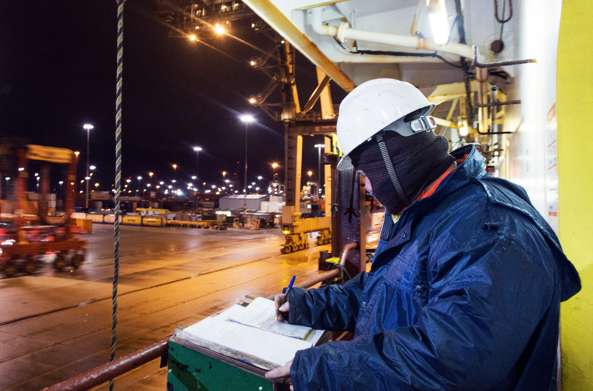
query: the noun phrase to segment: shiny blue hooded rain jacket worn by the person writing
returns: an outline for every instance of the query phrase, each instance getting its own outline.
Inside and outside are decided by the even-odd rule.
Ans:
[[[401,214],[370,273],[293,289],[289,322],[353,331],[298,351],[294,389],[555,389],[560,302],[581,289],[523,188],[486,174],[474,146]],[[551,387],[551,388],[550,388]]]

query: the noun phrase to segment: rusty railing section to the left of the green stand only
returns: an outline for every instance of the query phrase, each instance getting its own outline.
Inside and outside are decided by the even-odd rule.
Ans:
[[[141,350],[136,350],[78,376],[46,387],[43,391],[86,391],[99,384],[108,382],[110,379],[114,379],[127,371],[131,371],[142,364],[146,364],[155,358],[161,357],[167,352],[168,344],[168,338],[161,339],[161,341],[148,345]]]

